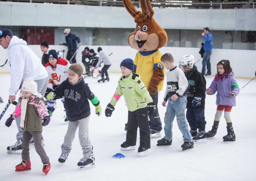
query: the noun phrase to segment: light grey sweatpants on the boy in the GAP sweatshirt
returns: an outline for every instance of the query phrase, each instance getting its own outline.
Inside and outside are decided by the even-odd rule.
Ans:
[[[92,153],[92,144],[89,139],[89,118],[90,116],[80,119],[77,121],[69,121],[68,122],[68,131],[64,138],[64,143],[60,146],[61,153],[69,154],[71,152],[72,142],[75,138],[76,130],[78,129],[78,137],[80,141],[80,145],[83,150],[84,157],[89,157]]]

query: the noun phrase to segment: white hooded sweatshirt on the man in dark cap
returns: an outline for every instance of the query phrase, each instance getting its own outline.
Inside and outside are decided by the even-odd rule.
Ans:
[[[40,58],[27,46],[27,42],[13,36],[7,48],[7,58],[11,69],[11,87],[9,95],[14,96],[19,90],[22,79],[44,79],[47,71],[41,64]]]

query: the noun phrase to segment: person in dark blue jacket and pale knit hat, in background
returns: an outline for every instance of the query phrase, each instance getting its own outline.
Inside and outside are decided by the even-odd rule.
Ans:
[[[67,60],[70,61],[70,59],[72,58],[72,56],[76,53],[76,49],[77,49],[77,44],[76,41],[78,43],[79,46],[82,45],[82,43],[80,42],[80,38],[78,36],[76,36],[75,34],[70,33],[70,29],[66,28],[64,30],[64,34],[65,34],[65,38],[66,38],[66,43],[60,43],[60,45],[65,45],[68,46],[68,54],[67,54]],[[76,55],[74,55],[72,61],[70,63],[76,63]]]

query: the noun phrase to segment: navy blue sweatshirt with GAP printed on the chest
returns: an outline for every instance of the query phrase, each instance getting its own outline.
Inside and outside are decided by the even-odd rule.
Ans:
[[[91,92],[88,84],[84,82],[84,79],[72,85],[67,78],[52,92],[56,93],[54,100],[64,96],[64,108],[70,121],[77,121],[90,116],[91,109],[88,99],[90,101],[96,99],[94,106],[100,104],[98,98]]]

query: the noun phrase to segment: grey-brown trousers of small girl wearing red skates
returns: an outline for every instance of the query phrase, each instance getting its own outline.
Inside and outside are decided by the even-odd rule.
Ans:
[[[22,148],[22,153],[21,153],[21,158],[24,161],[30,160],[29,158],[29,142],[33,136],[34,139],[34,146],[36,149],[36,153],[40,156],[42,163],[47,163],[49,162],[49,157],[46,155],[44,151],[44,147],[41,144],[41,138],[42,138],[42,133],[39,131],[24,131],[23,136],[22,136],[22,143],[21,143],[21,148]]]

